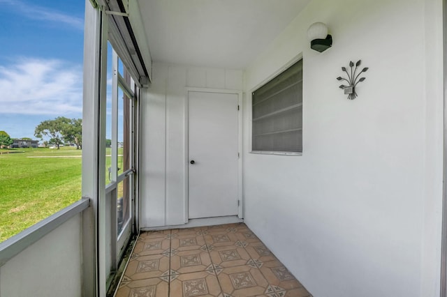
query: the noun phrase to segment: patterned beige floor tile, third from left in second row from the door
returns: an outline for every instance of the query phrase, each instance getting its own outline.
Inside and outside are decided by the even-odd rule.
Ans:
[[[241,266],[251,260],[247,251],[236,245],[214,248],[210,251],[210,256],[212,263],[221,267]]]

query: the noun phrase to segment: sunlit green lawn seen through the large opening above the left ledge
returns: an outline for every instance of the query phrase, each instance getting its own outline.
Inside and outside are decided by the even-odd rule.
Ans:
[[[0,153],[0,242],[80,199],[82,151],[17,148]]]

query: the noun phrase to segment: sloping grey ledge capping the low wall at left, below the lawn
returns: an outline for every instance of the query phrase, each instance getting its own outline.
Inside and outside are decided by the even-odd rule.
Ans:
[[[54,215],[50,215],[48,218],[24,229],[24,231],[19,234],[6,239],[3,243],[0,243],[0,266],[6,264],[6,262],[17,254],[20,254],[20,252],[28,248],[30,245],[41,240],[43,236],[61,226],[61,224],[64,224],[64,222],[73,218],[78,213],[89,208],[89,206],[90,199],[82,198],[70,206],[61,209],[61,211],[54,213]]]

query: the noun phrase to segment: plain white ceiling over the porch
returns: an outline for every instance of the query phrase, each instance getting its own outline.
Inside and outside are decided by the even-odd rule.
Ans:
[[[153,61],[244,69],[310,0],[138,0]]]

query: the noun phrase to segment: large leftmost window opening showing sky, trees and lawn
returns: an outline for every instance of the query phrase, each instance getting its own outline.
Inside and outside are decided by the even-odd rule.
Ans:
[[[1,7],[0,242],[81,199],[85,2]]]

